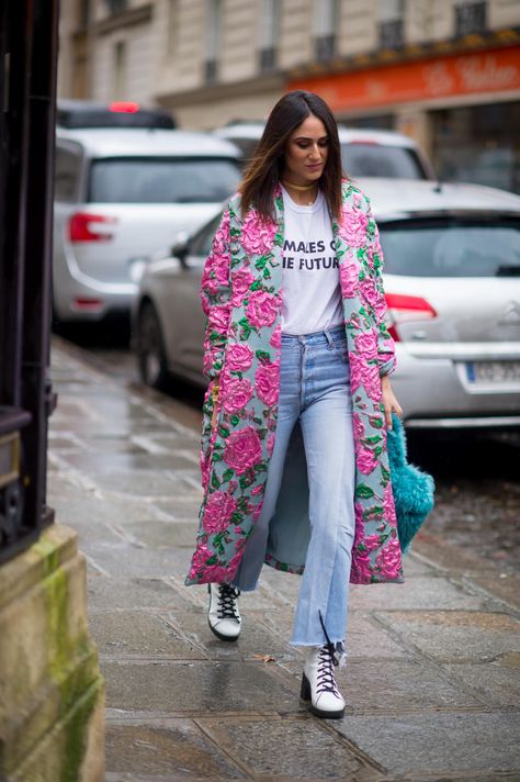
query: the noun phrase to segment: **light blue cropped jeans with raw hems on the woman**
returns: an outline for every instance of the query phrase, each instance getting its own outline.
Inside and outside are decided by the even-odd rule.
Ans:
[[[355,527],[352,400],[343,326],[282,335],[275,445],[262,510],[234,581],[244,591],[258,583],[287,445],[298,420],[307,460],[312,532],[291,643],[321,646],[326,636],[319,613],[332,643],[346,638]]]

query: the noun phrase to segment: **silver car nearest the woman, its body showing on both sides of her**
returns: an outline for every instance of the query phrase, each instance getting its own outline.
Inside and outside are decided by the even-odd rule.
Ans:
[[[520,198],[468,185],[365,180],[384,250],[393,386],[408,427],[520,425]],[[143,381],[204,384],[199,290],[218,216],[146,270]]]

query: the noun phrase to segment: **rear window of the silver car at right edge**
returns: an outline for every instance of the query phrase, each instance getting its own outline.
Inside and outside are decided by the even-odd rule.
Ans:
[[[381,223],[385,272],[414,277],[520,273],[520,220]]]

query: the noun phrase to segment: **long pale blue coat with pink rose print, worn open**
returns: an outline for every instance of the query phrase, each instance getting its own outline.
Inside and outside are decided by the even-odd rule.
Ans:
[[[210,378],[201,449],[204,499],[186,584],[233,582],[262,505],[280,383],[284,236],[280,188],[274,210],[275,221],[268,223],[255,210],[242,215],[240,197],[234,196],[204,267],[204,371]],[[393,371],[395,364],[384,322],[383,257],[369,200],[350,181],[342,185],[341,220],[332,221],[332,231],[349,346],[357,462],[350,581],[402,582],[381,401],[381,376]],[[301,573],[310,534],[308,484],[303,443],[293,434],[265,562]]]

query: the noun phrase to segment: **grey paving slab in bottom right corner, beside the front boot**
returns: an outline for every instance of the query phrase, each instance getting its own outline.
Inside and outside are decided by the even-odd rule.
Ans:
[[[346,716],[335,728],[389,773],[414,782],[520,771],[518,713]]]

